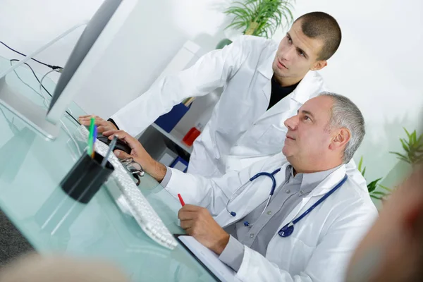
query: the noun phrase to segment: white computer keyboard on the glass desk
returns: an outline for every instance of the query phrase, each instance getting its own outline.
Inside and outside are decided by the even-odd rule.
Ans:
[[[88,139],[90,133],[85,126],[80,125],[78,131],[81,137],[85,138],[85,140]],[[103,142],[97,140],[95,143],[95,151],[102,156],[106,154],[108,149],[109,146]],[[111,176],[116,180],[122,193],[122,196],[119,197],[118,200],[116,199],[118,207],[120,207],[123,212],[132,215],[142,228],[142,231],[144,231],[149,238],[173,250],[173,248],[178,245],[176,239],[173,238],[168,228],[164,226],[163,221],[161,221],[160,217],[145,199],[144,195],[142,195],[137,185],[135,185],[134,180],[129,176],[126,169],[114,154],[111,154],[109,161],[115,168]]]

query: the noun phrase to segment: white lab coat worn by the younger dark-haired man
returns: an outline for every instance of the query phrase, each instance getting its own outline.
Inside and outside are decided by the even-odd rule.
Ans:
[[[137,135],[186,97],[224,87],[212,118],[195,140],[188,173],[216,177],[240,171],[281,152],[287,131],[283,122],[327,90],[321,76],[309,71],[288,97],[266,111],[277,48],[271,39],[242,36],[202,56],[191,68],[162,79],[111,118],[122,130]],[[347,168],[357,183],[365,183],[354,162]]]

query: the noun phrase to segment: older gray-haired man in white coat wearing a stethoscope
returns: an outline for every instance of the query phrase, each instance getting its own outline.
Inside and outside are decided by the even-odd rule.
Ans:
[[[345,169],[364,137],[364,118],[350,99],[324,92],[285,125],[281,154],[212,179],[159,164],[125,132],[104,135],[118,135],[147,173],[183,196],[180,226],[240,281],[343,281],[377,214],[365,185]]]

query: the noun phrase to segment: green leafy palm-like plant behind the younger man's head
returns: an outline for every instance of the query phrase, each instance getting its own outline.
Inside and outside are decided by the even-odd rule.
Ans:
[[[243,35],[256,35],[270,38],[281,25],[293,22],[290,0],[247,0],[235,1],[224,13],[235,16],[227,28],[243,30]],[[221,49],[231,44],[223,39],[217,45]]]

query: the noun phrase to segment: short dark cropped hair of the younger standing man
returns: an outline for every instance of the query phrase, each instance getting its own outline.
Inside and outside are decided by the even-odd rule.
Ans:
[[[326,61],[338,50],[342,38],[341,27],[331,15],[323,12],[306,13],[295,22],[301,23],[302,33],[305,36],[323,41],[317,60]]]

